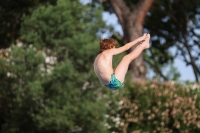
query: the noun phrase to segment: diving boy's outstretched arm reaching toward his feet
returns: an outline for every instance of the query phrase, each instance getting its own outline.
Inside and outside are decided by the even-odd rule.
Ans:
[[[141,36],[141,37],[135,39],[135,40],[132,41],[132,42],[127,43],[126,45],[124,45],[124,46],[122,46],[122,47],[112,49],[112,50],[111,50],[112,55],[120,54],[120,53],[122,53],[122,52],[124,52],[124,51],[130,49],[131,47],[133,47],[133,46],[134,46],[135,44],[137,44],[138,42],[143,41],[143,40],[145,39],[146,35],[147,35],[147,34],[145,33],[143,36]]]

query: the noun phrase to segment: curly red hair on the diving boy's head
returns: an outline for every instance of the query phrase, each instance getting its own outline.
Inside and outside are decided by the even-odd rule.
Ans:
[[[99,41],[100,50],[99,53],[104,50],[111,49],[117,46],[117,43],[113,39],[103,39]]]

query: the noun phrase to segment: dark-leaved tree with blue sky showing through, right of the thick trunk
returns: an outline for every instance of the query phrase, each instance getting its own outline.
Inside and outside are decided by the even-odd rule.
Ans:
[[[153,49],[146,61],[154,70],[160,71],[163,78],[157,63],[166,64],[181,58],[186,66],[192,67],[196,82],[199,82],[199,6],[200,2],[196,0],[165,0],[156,1],[150,10],[144,27],[151,32]],[[171,48],[176,49],[175,54],[171,54]]]

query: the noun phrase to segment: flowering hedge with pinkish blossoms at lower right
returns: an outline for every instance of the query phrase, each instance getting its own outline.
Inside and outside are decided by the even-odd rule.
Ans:
[[[199,84],[191,87],[149,82],[130,84],[123,89],[128,92],[110,103],[113,106],[109,108],[106,124],[110,132],[200,131]]]

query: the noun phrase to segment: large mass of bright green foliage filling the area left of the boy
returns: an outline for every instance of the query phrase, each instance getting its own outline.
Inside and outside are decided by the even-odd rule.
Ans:
[[[23,20],[22,43],[1,52],[0,131],[105,132],[105,101],[91,69],[101,10],[59,0]]]

